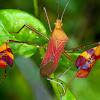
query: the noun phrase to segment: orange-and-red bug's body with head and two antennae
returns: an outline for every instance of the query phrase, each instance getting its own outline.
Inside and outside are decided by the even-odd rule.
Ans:
[[[67,5],[69,4],[69,2],[66,4],[65,9]],[[57,1],[57,3],[58,3],[58,9],[59,9],[59,2]],[[64,9],[64,12],[65,12],[65,9]],[[64,12],[62,13],[61,19],[59,19],[59,13],[58,13],[58,18],[57,18],[57,21],[55,22],[55,28],[52,31],[52,35],[49,40],[45,57],[40,66],[40,75],[44,78],[49,77],[57,68],[57,64],[62,54],[62,51],[64,49],[64,46],[66,42],[69,40],[69,38],[67,37],[63,29],[61,28],[63,25],[62,18],[63,18]],[[63,54],[69,57],[65,53]],[[69,57],[69,59],[74,62],[74,60],[71,57]]]

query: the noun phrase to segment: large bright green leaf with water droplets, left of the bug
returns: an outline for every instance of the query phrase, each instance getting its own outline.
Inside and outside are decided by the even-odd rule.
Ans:
[[[7,40],[30,42],[40,45],[47,42],[44,37],[28,28],[23,28],[19,33],[9,33],[17,32],[24,24],[31,26],[47,36],[46,29],[43,24],[33,15],[14,9],[0,10],[0,45]],[[37,49],[36,46],[21,43],[9,43],[9,46],[13,53],[21,54],[25,57],[32,56]]]

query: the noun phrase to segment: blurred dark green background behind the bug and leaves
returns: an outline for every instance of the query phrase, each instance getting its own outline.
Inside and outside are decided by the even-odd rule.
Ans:
[[[67,2],[68,0],[59,0],[60,16]],[[39,12],[42,7],[46,7],[53,29],[58,13],[56,0],[38,0]],[[19,9],[35,15],[34,0],[0,0],[0,9]],[[40,20],[49,33],[44,12]],[[63,17],[62,28],[70,39],[66,49],[100,41],[100,0],[71,0]],[[0,82],[0,100],[57,100],[50,82],[39,75],[41,61],[38,50],[27,59],[15,55],[13,67],[7,67],[7,77]],[[100,100],[99,66],[100,61],[87,78],[75,79],[70,85],[77,100]],[[59,69],[60,67],[62,66],[58,66]],[[0,77],[3,77],[3,71],[0,69]],[[66,73],[63,76],[65,82],[68,83],[75,73]],[[66,75],[69,76],[68,80]]]

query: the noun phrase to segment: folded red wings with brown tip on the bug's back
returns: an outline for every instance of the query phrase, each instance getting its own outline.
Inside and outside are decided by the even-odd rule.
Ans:
[[[50,38],[45,57],[40,66],[42,77],[48,77],[55,71],[66,42]]]

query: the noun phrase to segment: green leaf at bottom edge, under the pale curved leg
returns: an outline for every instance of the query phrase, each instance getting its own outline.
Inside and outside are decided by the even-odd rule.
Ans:
[[[71,91],[69,90],[69,88],[67,88],[65,95],[62,96],[64,93],[64,90],[65,90],[65,87],[67,86],[67,84],[65,82],[63,82],[60,79],[56,79],[56,78],[48,78],[48,80],[51,81],[51,84],[54,88],[54,91],[55,91],[58,99],[76,100],[75,97],[73,96],[73,94],[71,93]],[[55,88],[55,87],[57,87],[57,88]]]

